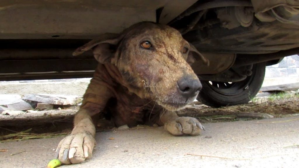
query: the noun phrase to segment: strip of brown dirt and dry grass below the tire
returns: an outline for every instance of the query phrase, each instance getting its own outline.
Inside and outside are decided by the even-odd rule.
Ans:
[[[227,122],[237,120],[253,120],[258,118],[239,118],[240,112],[266,113],[274,117],[299,114],[299,95],[271,96],[256,98],[254,102],[243,105],[212,108],[205,105],[189,105],[179,112],[180,116],[196,117],[202,122]]]

